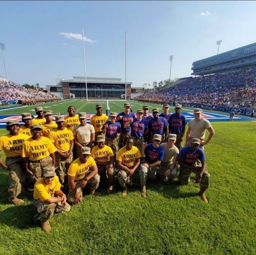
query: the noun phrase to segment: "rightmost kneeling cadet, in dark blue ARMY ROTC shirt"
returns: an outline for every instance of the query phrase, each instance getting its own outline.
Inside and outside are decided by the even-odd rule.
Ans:
[[[191,145],[180,150],[179,153],[179,183],[187,185],[190,182],[190,174],[196,174],[193,183],[200,183],[199,196],[205,203],[208,199],[205,196],[205,190],[209,186],[210,174],[205,169],[205,154],[202,148],[199,148],[201,140],[191,139]],[[199,162],[200,161],[200,162]],[[198,163],[199,162],[199,163]]]

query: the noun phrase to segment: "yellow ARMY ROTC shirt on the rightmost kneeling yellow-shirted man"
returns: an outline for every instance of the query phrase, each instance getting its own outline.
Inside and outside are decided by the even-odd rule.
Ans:
[[[141,158],[141,153],[135,146],[132,146],[130,151],[127,151],[126,147],[122,147],[116,156],[116,160],[121,161],[127,167],[133,167],[138,158]]]

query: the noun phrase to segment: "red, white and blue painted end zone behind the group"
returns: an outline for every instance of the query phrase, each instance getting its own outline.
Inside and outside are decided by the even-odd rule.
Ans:
[[[95,114],[95,113],[87,114],[86,123],[88,123],[88,124],[90,123],[90,118],[93,114]],[[184,114],[186,116],[188,122],[191,119],[194,118],[193,111],[182,112],[182,114]],[[66,115],[66,114],[62,114],[62,115]],[[36,115],[34,117],[36,117]],[[202,118],[206,118],[210,122],[228,121],[229,115],[225,114],[225,113],[218,114],[218,113],[203,111],[202,112]],[[24,124],[21,121],[21,115],[0,115],[0,128],[5,128],[6,127],[6,122],[8,120],[19,120],[21,125]],[[233,121],[255,121],[256,122],[256,119],[246,117],[246,116],[243,116],[243,115],[239,115],[238,117],[233,118]]]

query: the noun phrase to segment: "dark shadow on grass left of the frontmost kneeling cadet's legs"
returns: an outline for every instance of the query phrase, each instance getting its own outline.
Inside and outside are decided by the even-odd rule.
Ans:
[[[37,212],[32,204],[11,205],[5,210],[0,211],[0,224],[27,229],[37,226]]]

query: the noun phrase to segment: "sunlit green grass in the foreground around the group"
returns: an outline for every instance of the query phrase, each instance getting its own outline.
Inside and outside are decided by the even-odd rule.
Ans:
[[[56,214],[46,234],[31,200],[21,194],[24,204],[8,203],[9,177],[0,169],[0,254],[255,254],[256,125],[212,124],[209,204],[198,197],[198,184],[148,183],[147,198],[137,188],[124,198],[116,184],[112,195],[101,190]]]

